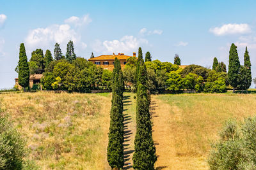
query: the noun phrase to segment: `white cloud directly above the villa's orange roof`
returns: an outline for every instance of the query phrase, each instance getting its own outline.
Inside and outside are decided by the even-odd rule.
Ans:
[[[143,38],[136,38],[134,36],[124,36],[120,40],[106,40],[103,42],[96,40],[93,45],[93,50],[95,50],[95,52],[102,53],[131,53],[135,50],[138,50],[139,46],[143,44],[148,44],[148,40]]]

